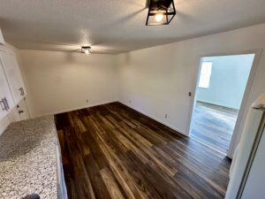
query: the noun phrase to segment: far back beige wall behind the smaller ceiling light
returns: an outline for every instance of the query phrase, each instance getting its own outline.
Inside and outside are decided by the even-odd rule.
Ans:
[[[41,50],[19,50],[19,55],[31,117],[117,101],[112,55]]]

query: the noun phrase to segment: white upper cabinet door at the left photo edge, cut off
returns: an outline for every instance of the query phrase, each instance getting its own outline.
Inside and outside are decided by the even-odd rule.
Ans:
[[[3,119],[14,106],[11,92],[4,75],[4,57],[6,56],[6,52],[0,50],[0,120]]]

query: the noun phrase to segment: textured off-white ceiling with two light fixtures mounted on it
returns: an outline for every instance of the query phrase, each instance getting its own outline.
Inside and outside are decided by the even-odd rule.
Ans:
[[[169,26],[146,27],[145,0],[0,0],[4,38],[19,49],[119,53],[265,22],[264,0],[176,0]],[[104,50],[103,50],[104,49]]]

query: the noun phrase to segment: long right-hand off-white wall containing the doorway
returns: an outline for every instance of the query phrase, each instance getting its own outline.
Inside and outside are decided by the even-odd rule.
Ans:
[[[193,107],[188,92],[195,90],[200,57],[261,50],[265,48],[264,35],[265,24],[261,24],[118,55],[119,100],[187,135]],[[243,110],[243,122],[236,127],[239,133],[232,142],[239,142],[248,107],[265,92],[264,85],[262,53]],[[168,114],[167,119],[164,114]]]

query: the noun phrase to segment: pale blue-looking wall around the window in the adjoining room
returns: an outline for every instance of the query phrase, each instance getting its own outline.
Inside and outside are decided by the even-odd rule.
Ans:
[[[254,54],[203,57],[202,61],[212,62],[212,72],[209,87],[197,87],[196,99],[239,110]]]

